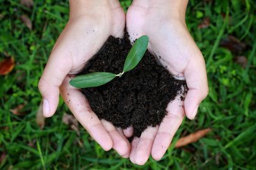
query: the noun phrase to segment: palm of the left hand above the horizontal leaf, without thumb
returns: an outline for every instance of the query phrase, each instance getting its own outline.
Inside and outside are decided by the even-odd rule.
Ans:
[[[116,22],[111,17],[116,15],[113,13],[121,13],[118,18],[115,18],[120,22],[119,26],[112,24]],[[94,18],[87,17],[87,19],[84,19],[80,17],[70,20],[54,45],[51,55],[58,53],[58,56],[63,58],[64,65],[71,64],[70,74],[81,70],[109,36],[123,36],[125,17],[122,15],[122,11],[108,11],[103,15],[105,16],[105,22],[102,22],[102,16],[100,15],[96,15]]]

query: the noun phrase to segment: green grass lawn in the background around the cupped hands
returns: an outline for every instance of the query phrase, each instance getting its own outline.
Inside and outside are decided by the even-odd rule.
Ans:
[[[131,1],[121,3],[127,8]],[[0,0],[0,4],[0,60],[8,52],[16,61],[15,69],[0,77],[0,157],[6,153],[0,169],[255,169],[253,0],[189,1],[188,29],[205,56],[210,92],[195,121],[185,120],[173,140],[202,128],[211,127],[213,131],[184,148],[171,146],[161,161],[150,158],[142,167],[120,158],[115,151],[103,151],[82,127],[79,136],[64,125],[62,115],[70,112],[62,100],[43,130],[36,125],[35,115],[41,101],[37,82],[68,20],[68,3],[35,0],[33,9],[15,0]],[[24,13],[33,22],[32,31],[20,21]],[[211,24],[198,29],[205,17],[209,17]],[[228,35],[246,43],[246,50],[234,53],[220,47]],[[234,62],[236,56],[246,56],[246,68]],[[19,104],[25,104],[25,116],[10,112]]]

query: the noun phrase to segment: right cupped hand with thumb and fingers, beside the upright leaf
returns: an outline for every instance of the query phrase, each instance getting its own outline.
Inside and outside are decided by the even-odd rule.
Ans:
[[[127,12],[131,41],[148,35],[150,52],[161,56],[161,63],[168,66],[177,79],[185,79],[189,88],[184,101],[177,97],[168,104],[167,115],[159,127],[149,127],[140,138],[134,138],[130,154],[134,164],[145,164],[150,153],[155,160],[160,160],[184,115],[193,120],[198,105],[208,93],[205,61],[185,23],[187,4],[188,0],[134,0]]]

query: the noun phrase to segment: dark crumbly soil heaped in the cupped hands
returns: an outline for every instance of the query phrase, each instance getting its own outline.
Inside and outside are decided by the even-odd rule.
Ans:
[[[110,36],[108,41],[87,64],[82,72],[120,73],[125,58],[131,49],[127,33],[124,39]],[[123,129],[132,126],[132,137],[140,137],[148,126],[159,125],[166,115],[166,106],[178,94],[184,100],[185,81],[173,78],[158,58],[146,52],[133,70],[116,77],[113,81],[97,88],[82,89],[92,110],[100,119],[111,121]],[[180,106],[183,107],[183,106]]]

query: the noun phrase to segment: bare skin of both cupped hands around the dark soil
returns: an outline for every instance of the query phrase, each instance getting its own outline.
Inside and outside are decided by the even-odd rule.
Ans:
[[[132,127],[122,130],[99,120],[79,89],[69,81],[102,47],[108,36],[122,37],[125,13],[117,0],[70,0],[70,19],[54,45],[38,88],[44,101],[45,117],[58,106],[59,95],[88,133],[106,151],[113,148],[131,162],[143,165],[150,154],[160,160],[184,116],[193,120],[198,105],[208,93],[205,62],[188,32],[185,12],[188,1],[134,0],[126,15],[131,41],[148,35],[148,49],[161,56],[161,63],[177,79],[185,79],[188,94],[168,104],[167,116],[159,127],[148,127],[130,144]],[[184,107],[180,107],[184,105]]]

